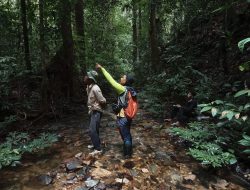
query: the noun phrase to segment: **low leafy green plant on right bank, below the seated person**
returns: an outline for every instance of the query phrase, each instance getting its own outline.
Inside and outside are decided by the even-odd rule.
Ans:
[[[233,150],[224,150],[222,146],[230,143],[228,136],[222,136],[221,128],[215,124],[193,122],[188,128],[171,128],[172,134],[191,142],[188,154],[204,165],[222,167],[234,164],[237,160]]]

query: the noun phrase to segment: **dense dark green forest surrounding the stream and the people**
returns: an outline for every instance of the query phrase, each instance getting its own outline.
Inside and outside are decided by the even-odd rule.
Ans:
[[[181,147],[207,172],[233,172],[250,188],[249,21],[249,0],[2,0],[0,179],[12,167],[24,167],[25,159],[38,159],[62,142],[63,130],[51,123],[79,114],[82,122],[88,120],[84,76],[99,63],[115,79],[132,73],[140,108],[135,125],[146,133],[158,127],[156,135],[166,130],[171,139],[166,143]],[[97,81],[107,104],[116,101],[101,74]],[[184,104],[190,91],[196,94],[197,117],[171,126],[164,121],[171,106]],[[157,124],[145,127],[149,118]],[[179,183],[151,186],[156,178],[148,179],[142,189],[182,189]],[[186,189],[199,189],[191,181]],[[140,189],[123,180],[109,188],[107,184],[87,187]]]

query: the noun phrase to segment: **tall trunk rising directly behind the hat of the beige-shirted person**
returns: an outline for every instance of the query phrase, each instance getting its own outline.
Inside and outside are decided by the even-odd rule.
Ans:
[[[86,73],[85,59],[85,30],[84,30],[84,0],[77,0],[75,3],[75,23],[78,38],[79,61],[82,66],[82,73]]]

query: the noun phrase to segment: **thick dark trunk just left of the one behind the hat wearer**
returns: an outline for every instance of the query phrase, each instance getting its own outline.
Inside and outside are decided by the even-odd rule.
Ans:
[[[73,96],[74,49],[71,27],[71,3],[69,0],[60,1],[60,26],[63,40],[62,84],[65,97]]]

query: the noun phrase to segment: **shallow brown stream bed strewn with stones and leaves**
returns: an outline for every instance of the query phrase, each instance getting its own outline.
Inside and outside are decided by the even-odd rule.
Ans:
[[[115,122],[105,115],[100,129],[104,154],[91,157],[86,118],[86,113],[79,113],[43,126],[57,133],[59,141],[24,155],[21,166],[0,171],[1,189],[244,189],[201,167],[184,148],[170,142],[168,124],[150,119],[142,110],[132,125],[131,159],[123,159]]]

